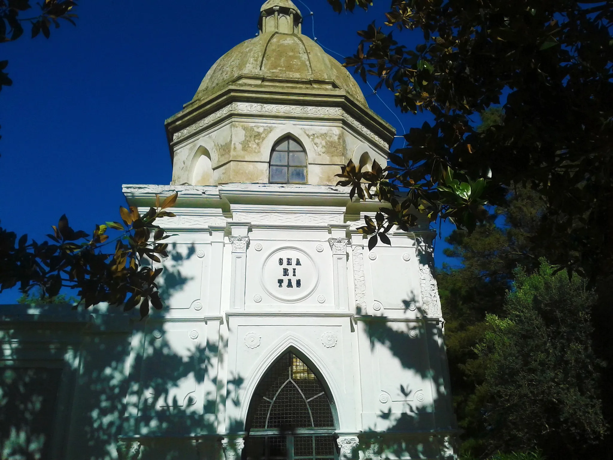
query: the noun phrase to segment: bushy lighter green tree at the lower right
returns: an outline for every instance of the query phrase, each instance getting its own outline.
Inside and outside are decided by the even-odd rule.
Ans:
[[[552,458],[582,459],[603,439],[603,363],[590,337],[595,302],[584,280],[555,273],[544,260],[532,275],[516,270],[506,317],[487,315],[475,347],[487,450],[542,448]]]

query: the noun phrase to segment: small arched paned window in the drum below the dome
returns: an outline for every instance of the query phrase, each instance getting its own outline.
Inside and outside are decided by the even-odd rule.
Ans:
[[[307,154],[291,137],[284,137],[273,147],[268,182],[307,183]]]

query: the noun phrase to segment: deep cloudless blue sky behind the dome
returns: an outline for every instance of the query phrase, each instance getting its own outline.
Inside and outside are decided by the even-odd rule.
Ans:
[[[122,184],[170,183],[164,120],[191,100],[216,59],[256,34],[263,1],[82,1],[77,27],[62,21],[48,40],[26,31],[2,44],[13,86],[0,93],[0,225],[43,239],[66,213],[71,226],[91,232],[117,220]],[[303,33],[313,37],[309,9],[295,3]],[[337,15],[326,0],[306,3],[318,41],[343,56],[356,50],[356,30],[381,21],[388,6]],[[408,33],[402,38],[411,43]],[[370,107],[402,134],[392,112],[362,88]],[[390,93],[380,96],[394,109]],[[424,121],[395,113],[407,130]],[[438,265],[443,241],[437,243]],[[18,296],[5,292],[0,303]]]

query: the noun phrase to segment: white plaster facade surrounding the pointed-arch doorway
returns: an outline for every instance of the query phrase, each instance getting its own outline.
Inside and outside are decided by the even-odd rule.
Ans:
[[[165,220],[173,237],[162,263],[162,312],[78,339],[78,372],[63,387],[68,444],[56,458],[114,459],[121,439],[142,460],[221,460],[215,436],[243,432],[257,383],[288,349],[321,375],[341,436],[383,436],[393,446],[386,458],[453,458],[444,441],[454,421],[441,318],[421,308],[424,266],[414,235],[392,234],[391,247],[368,251],[334,196],[325,199],[329,205],[308,194],[291,201],[292,191],[306,189],[283,188],[293,204],[281,205],[281,189],[263,190],[257,199],[249,186],[237,190],[243,189],[230,205],[200,198],[200,208],[177,208],[177,217]],[[331,238],[346,239],[345,255],[334,254]],[[284,266],[263,270],[279,250],[301,251],[313,266],[302,264],[300,276],[318,276],[298,301],[268,296],[264,288],[266,277],[273,287],[285,278]],[[335,303],[340,286],[346,304]],[[424,431],[433,434],[424,438]]]

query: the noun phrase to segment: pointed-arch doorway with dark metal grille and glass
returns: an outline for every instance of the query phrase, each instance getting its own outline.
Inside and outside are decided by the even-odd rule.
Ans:
[[[338,459],[332,401],[293,351],[266,372],[249,405],[246,460]]]

